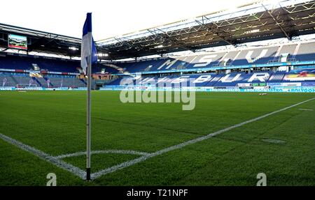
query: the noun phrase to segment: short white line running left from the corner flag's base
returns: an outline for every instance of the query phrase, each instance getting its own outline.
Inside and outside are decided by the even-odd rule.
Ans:
[[[50,162],[51,164],[54,164],[57,167],[60,167],[62,169],[65,169],[66,171],[71,172],[72,174],[75,174],[76,176],[85,179],[85,171],[83,171],[82,169],[79,169],[78,167],[74,167],[71,164],[68,164],[62,160],[58,160],[57,158],[48,155],[47,153],[43,153],[43,151],[40,151],[36,148],[33,148],[31,146],[28,146],[27,144],[23,144],[20,141],[17,141],[15,139],[12,139],[4,134],[0,133],[0,138],[3,139],[4,141],[8,142],[9,144],[13,144],[14,146],[17,146],[18,148],[27,151],[33,155],[36,155],[37,157]]]

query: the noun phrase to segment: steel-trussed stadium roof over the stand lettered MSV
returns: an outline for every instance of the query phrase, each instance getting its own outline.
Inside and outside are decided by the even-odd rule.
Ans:
[[[99,40],[108,59],[166,54],[315,33],[315,1],[258,1],[239,8]]]

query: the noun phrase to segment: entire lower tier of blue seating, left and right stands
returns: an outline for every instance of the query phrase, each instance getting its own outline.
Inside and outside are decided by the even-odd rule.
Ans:
[[[138,86],[252,86],[253,84],[281,83],[281,82],[314,82],[315,70],[261,71],[261,72],[232,72],[204,73],[194,75],[169,75],[165,77],[120,77],[106,86],[120,86],[120,82],[128,80]],[[48,84],[49,82],[49,84]],[[126,83],[126,82],[125,82]],[[85,87],[86,82],[74,75],[44,75],[31,77],[29,73],[0,72],[1,86],[43,86],[43,87]]]

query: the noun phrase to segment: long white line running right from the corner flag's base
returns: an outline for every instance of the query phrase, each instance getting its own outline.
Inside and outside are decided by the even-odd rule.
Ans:
[[[271,113],[269,113],[269,114],[265,114],[265,115],[262,115],[262,116],[258,116],[257,118],[253,118],[253,119],[251,119],[251,120],[244,121],[244,122],[239,123],[239,124],[237,124],[237,125],[232,125],[232,126],[230,126],[229,128],[225,128],[225,129],[223,129],[223,130],[218,130],[217,132],[213,132],[213,133],[211,133],[211,134],[207,134],[206,136],[198,137],[198,138],[196,138],[196,139],[192,139],[192,140],[189,140],[189,141],[185,141],[185,142],[183,142],[183,143],[181,143],[181,144],[177,144],[177,145],[174,145],[174,146],[170,146],[170,147],[168,147],[168,148],[164,148],[164,149],[162,149],[162,150],[160,150],[160,151],[156,151],[155,153],[150,153],[150,154],[148,154],[148,155],[144,155],[144,156],[138,157],[138,158],[136,158],[136,159],[134,159],[134,160],[130,160],[130,161],[127,161],[127,162],[123,162],[123,163],[121,163],[121,164],[117,164],[117,165],[115,165],[115,166],[113,166],[113,167],[109,167],[109,168],[107,168],[107,169],[104,169],[104,170],[95,172],[94,174],[91,174],[91,178],[92,178],[92,179],[99,178],[99,176],[103,176],[104,174],[112,173],[112,172],[114,172],[114,171],[117,171],[118,169],[124,169],[124,168],[126,168],[126,167],[130,167],[130,166],[132,166],[133,164],[137,164],[137,163],[139,163],[139,162],[143,162],[143,161],[145,161],[145,160],[148,160],[148,159],[151,158],[151,157],[155,157],[155,156],[157,156],[157,155],[161,155],[161,154],[167,153],[167,152],[169,152],[169,151],[173,151],[173,150],[176,150],[176,149],[179,149],[179,148],[183,148],[184,146],[187,146],[187,145],[189,145],[189,144],[195,144],[195,143],[197,143],[197,142],[199,142],[199,141],[203,141],[203,140],[205,140],[205,139],[209,139],[209,138],[211,138],[211,137],[214,137],[214,136],[216,136],[217,134],[221,134],[221,133],[223,133],[223,132],[227,132],[227,131],[229,131],[229,130],[238,128],[238,127],[240,127],[240,126],[242,126],[242,125],[246,125],[246,124],[248,124],[248,123],[252,123],[253,121],[258,121],[258,120],[260,120],[260,119],[262,119],[262,118],[266,118],[267,116],[271,116],[271,115],[273,115],[273,114],[277,114],[277,113],[279,113],[279,112],[281,112],[281,111],[285,111],[285,110],[287,110],[287,109],[290,109],[290,108],[292,108],[292,107],[296,107],[296,106],[298,106],[298,105],[301,105],[301,104],[303,104],[303,103],[305,103],[305,102],[309,102],[309,101],[314,100],[314,99],[315,99],[315,98],[311,98],[311,99],[309,99],[309,100],[304,100],[304,101],[299,102],[299,103],[297,103],[297,104],[295,104],[295,105],[291,105],[291,106],[289,106],[289,107],[285,107],[285,108],[283,108],[283,109],[279,109],[279,110],[277,110],[277,111],[273,111],[273,112],[271,112]]]

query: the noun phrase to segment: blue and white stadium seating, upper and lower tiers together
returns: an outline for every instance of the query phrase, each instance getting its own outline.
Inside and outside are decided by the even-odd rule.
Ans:
[[[210,52],[193,56],[162,57],[160,59],[147,59],[143,61],[108,62],[98,63],[92,66],[92,72],[109,72],[117,74],[137,74],[141,72],[162,72],[163,70],[181,70],[212,68],[225,66],[249,66],[267,63],[283,63],[290,61],[315,61],[315,42],[287,43],[276,46],[251,47],[244,49],[232,49],[226,52]],[[43,87],[85,87],[84,79],[78,79],[75,74],[79,73],[80,61],[44,58],[39,56],[27,56],[17,54],[0,54],[0,69],[15,70],[15,72],[0,72],[0,86],[43,86]],[[31,75],[29,72],[20,70],[45,70],[48,72]],[[5,70],[3,70],[5,71]],[[66,73],[60,73],[66,72]],[[172,74],[172,73],[171,73]],[[163,79],[158,79],[163,77]],[[114,80],[107,86],[119,86],[123,77]],[[291,70],[286,71],[262,71],[262,72],[232,72],[169,75],[158,73],[151,77],[129,77],[134,84],[146,85],[158,83],[164,86],[247,86],[265,83],[298,83],[315,82],[314,70]],[[193,79],[197,79],[194,81]],[[136,81],[137,80],[137,81]]]

